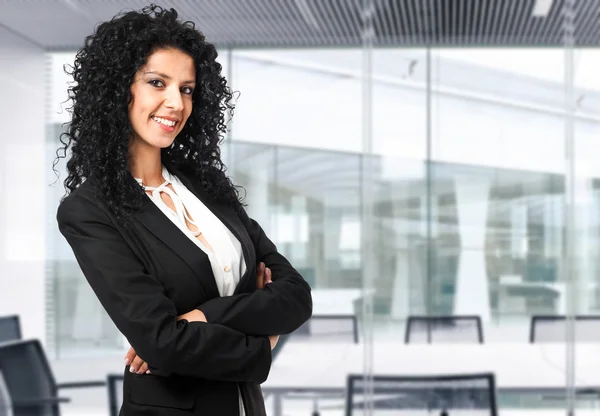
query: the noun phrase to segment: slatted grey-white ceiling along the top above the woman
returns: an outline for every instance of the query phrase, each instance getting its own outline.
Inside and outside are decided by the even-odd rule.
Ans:
[[[164,0],[217,45],[360,46],[363,5],[371,3],[379,46],[560,46],[564,0],[535,16],[535,0]],[[576,44],[600,44],[598,1],[578,0]],[[140,0],[4,0],[0,25],[48,50],[77,49],[99,22]]]

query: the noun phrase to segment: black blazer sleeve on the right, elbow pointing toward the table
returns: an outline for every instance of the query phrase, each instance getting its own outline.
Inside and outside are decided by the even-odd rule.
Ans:
[[[262,261],[271,269],[273,283],[252,293],[210,299],[198,309],[208,322],[245,334],[289,334],[312,315],[310,285],[241,206],[238,215],[254,244],[257,264]]]

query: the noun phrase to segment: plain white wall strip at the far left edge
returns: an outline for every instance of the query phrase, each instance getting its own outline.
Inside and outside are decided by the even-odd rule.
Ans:
[[[45,54],[0,27],[0,315],[45,341]]]

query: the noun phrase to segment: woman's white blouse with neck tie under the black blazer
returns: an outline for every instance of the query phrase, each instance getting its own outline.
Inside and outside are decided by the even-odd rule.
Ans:
[[[156,206],[173,221],[173,223],[194,242],[210,260],[210,266],[215,276],[215,282],[221,296],[231,296],[246,272],[246,262],[242,252],[242,245],[229,229],[200,201],[196,195],[190,192],[186,186],[175,176],[171,175],[163,166],[162,176],[165,181],[158,187],[145,186],[140,178],[135,180],[144,187],[146,191],[152,191],[152,195],[146,195]],[[171,184],[173,190],[167,185]],[[162,200],[161,192],[171,197],[176,212]],[[190,218],[187,213],[189,212]],[[188,220],[198,228],[198,232],[190,230],[185,222]],[[192,220],[193,219],[193,220]],[[203,234],[208,244],[214,250],[211,251],[198,238]],[[244,405],[242,396],[239,394],[240,416],[244,416]]]

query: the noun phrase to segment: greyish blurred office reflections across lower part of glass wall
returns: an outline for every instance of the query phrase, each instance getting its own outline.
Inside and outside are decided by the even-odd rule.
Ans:
[[[250,215],[311,286],[360,289],[360,155],[238,142],[231,151],[230,174],[247,191]],[[390,164],[394,171],[386,171]],[[397,321],[391,336],[403,336],[408,315],[426,314],[428,299],[433,315],[477,314],[497,326],[516,318],[524,331],[519,338],[530,315],[564,314],[562,175],[433,163],[428,241],[424,164],[375,158],[374,166],[384,172],[375,181],[374,309],[376,320]],[[599,191],[593,181],[596,204]],[[53,192],[62,195],[62,187]],[[119,346],[74,259],[53,237],[59,342]],[[597,247],[598,235],[591,237]],[[595,259],[588,262],[597,267]],[[590,275],[587,284],[587,311],[597,311],[598,277]]]

